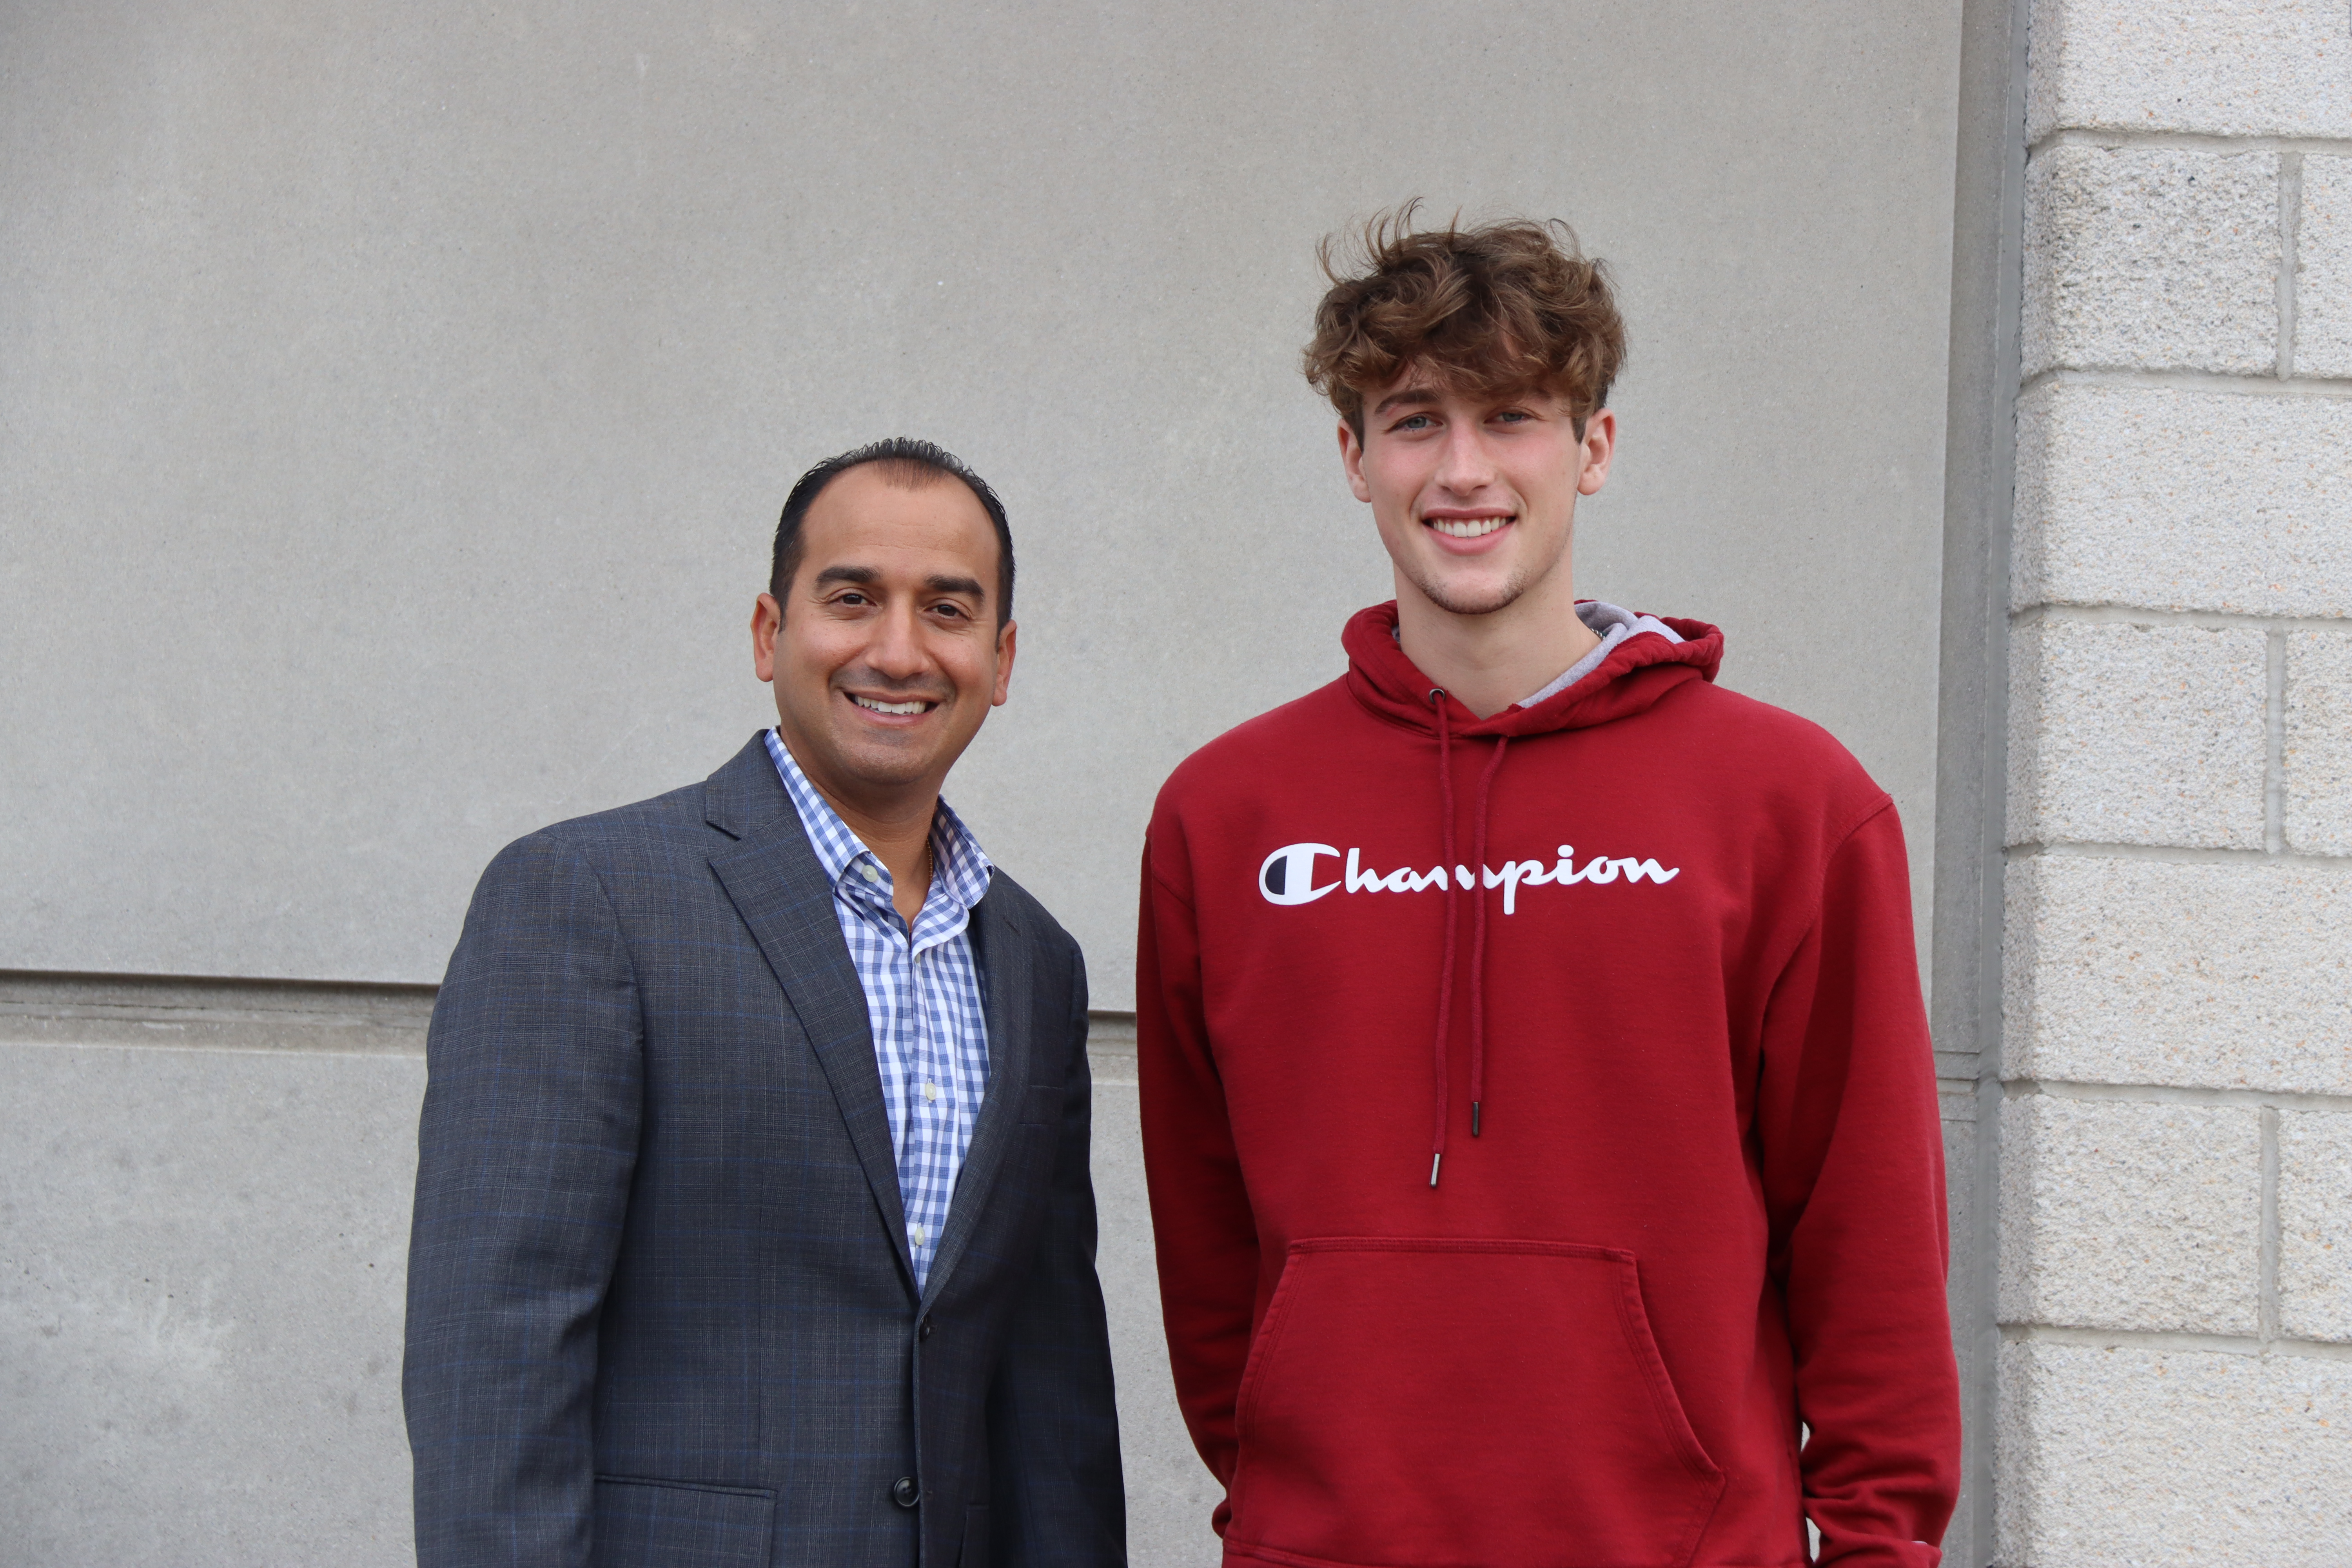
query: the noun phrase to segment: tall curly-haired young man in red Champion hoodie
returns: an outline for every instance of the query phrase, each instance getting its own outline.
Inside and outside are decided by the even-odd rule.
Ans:
[[[1136,1009],[1225,1561],[1931,1568],[1959,1479],[1893,802],[1578,604],[1625,331],[1534,223],[1315,317],[1397,599],[1152,813]],[[1327,263],[1329,266],[1329,263]],[[1809,1434],[1806,1434],[1809,1429]]]

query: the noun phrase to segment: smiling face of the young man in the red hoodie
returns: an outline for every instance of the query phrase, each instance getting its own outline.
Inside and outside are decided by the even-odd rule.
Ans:
[[[1576,496],[1609,477],[1616,416],[1583,435],[1552,393],[1472,395],[1418,367],[1364,397],[1364,433],[1343,421],[1341,461],[1397,569],[1397,597],[1491,616],[1543,588],[1569,552]]]

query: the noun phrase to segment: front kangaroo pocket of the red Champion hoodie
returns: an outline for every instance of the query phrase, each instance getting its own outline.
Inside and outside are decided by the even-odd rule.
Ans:
[[[1296,1241],[1235,1427],[1275,1563],[1679,1568],[1724,1490],[1604,1246]]]

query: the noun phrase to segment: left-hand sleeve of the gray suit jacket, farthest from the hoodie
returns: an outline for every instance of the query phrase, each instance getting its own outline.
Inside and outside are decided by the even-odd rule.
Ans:
[[[637,1157],[637,987],[588,863],[482,875],[428,1037],[402,1396],[419,1568],[586,1563],[597,1309]]]

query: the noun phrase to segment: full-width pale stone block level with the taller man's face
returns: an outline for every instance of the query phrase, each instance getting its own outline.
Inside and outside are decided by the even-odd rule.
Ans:
[[[2013,602],[2352,616],[2352,397],[2042,386]]]

